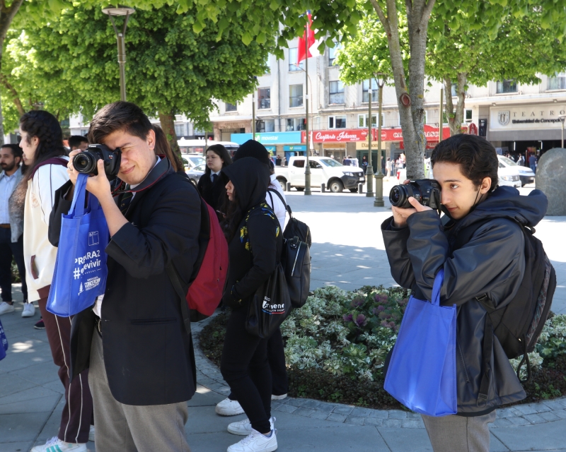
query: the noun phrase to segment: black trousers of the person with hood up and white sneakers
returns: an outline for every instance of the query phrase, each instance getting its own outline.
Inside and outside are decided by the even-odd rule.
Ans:
[[[267,360],[267,339],[246,331],[246,309],[232,311],[226,325],[226,337],[220,371],[238,400],[252,428],[270,432],[271,370]]]

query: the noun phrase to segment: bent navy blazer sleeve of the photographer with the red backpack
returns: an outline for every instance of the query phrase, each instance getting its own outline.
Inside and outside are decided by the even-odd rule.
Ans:
[[[133,278],[146,278],[163,273],[175,257],[192,253],[196,258],[199,232],[197,192],[190,187],[173,189],[156,203],[146,227],[126,223],[112,236],[106,252]]]

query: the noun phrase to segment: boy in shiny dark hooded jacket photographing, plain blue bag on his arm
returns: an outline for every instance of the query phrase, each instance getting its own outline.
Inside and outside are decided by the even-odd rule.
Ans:
[[[495,420],[496,408],[526,394],[494,336],[489,390],[487,398],[480,397],[487,311],[477,297],[487,295],[497,308],[516,295],[525,271],[521,227],[538,224],[548,201],[539,190],[519,196],[514,188],[497,187],[497,153],[484,138],[461,134],[441,141],[431,162],[446,215],[440,218],[409,198],[413,208],[393,207],[393,218],[381,230],[395,281],[417,299],[431,299],[434,277],[443,268],[440,304],[457,307],[458,412],[422,416],[432,447],[435,452],[487,452],[487,424]],[[458,236],[470,239],[458,244]]]

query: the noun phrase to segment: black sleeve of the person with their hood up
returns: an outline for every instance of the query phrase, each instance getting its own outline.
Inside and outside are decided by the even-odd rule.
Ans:
[[[238,297],[247,298],[258,290],[275,270],[277,240],[281,240],[281,228],[277,220],[262,213],[251,215],[248,219],[248,237],[252,251],[253,266],[248,273],[234,285]]]

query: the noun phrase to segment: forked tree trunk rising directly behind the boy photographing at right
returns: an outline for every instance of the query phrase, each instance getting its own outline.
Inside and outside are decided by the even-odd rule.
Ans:
[[[399,39],[398,12],[395,0],[386,0],[386,14],[379,0],[371,0],[381,25],[388,37],[391,68],[395,81],[395,94],[399,118],[403,130],[403,142],[407,157],[408,179],[424,179],[424,57],[427,49],[427,29],[435,0],[405,0],[409,31],[409,89],[405,85],[405,69]],[[403,105],[403,98],[410,98],[410,105]],[[406,102],[405,102],[406,103]]]

